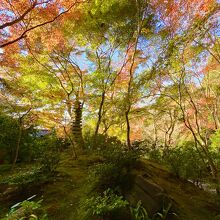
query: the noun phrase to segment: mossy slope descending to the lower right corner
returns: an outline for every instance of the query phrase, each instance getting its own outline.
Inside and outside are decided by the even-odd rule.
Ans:
[[[216,204],[216,196],[202,191],[186,180],[178,179],[163,166],[143,160],[136,172],[150,178],[161,186],[177,203],[179,216],[183,220],[213,220],[220,212]]]

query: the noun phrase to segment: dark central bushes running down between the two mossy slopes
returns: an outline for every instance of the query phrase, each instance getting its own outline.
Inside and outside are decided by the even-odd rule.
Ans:
[[[87,217],[81,216],[80,219],[93,219],[88,216],[105,219],[127,206],[128,202],[120,195],[124,195],[133,185],[131,169],[140,156],[138,150],[127,150],[126,146],[115,138],[107,138],[96,144],[97,148],[93,149],[93,153],[98,154],[102,160],[90,167],[88,184],[85,184],[84,189],[85,198],[80,202],[80,213]],[[128,209],[123,211],[124,213],[121,210],[122,215],[129,214]],[[119,213],[115,213],[115,216],[120,218]]]

